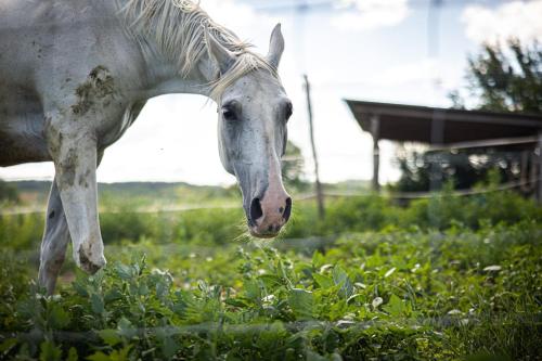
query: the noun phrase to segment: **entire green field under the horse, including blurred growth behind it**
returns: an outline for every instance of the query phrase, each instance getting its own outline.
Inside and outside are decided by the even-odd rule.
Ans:
[[[33,281],[42,215],[1,216],[0,359],[542,360],[542,210],[483,189],[328,199],[324,220],[299,202],[272,243],[237,208],[112,192],[107,268],[68,257],[53,297]]]

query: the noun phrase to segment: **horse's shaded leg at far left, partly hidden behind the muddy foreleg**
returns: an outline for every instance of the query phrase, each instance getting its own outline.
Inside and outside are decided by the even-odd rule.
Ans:
[[[52,295],[54,292],[56,279],[66,256],[68,242],[69,230],[55,180],[49,195],[46,232],[41,242],[39,265],[39,284],[47,289],[49,295]]]

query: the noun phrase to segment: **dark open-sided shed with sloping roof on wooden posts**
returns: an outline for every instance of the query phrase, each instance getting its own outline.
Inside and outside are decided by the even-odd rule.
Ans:
[[[538,147],[542,194],[542,116],[346,100],[374,140],[373,184],[378,189],[379,140],[418,142],[434,149]]]

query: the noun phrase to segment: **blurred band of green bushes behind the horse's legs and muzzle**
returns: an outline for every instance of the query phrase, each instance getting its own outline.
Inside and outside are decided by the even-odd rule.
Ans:
[[[294,205],[292,221],[283,238],[336,237],[344,233],[386,229],[447,230],[455,224],[478,229],[481,224],[514,224],[521,220],[542,221],[542,208],[514,192],[454,196],[451,189],[428,199],[403,207],[386,196],[335,198],[326,203],[326,216],[318,218],[308,202]],[[180,212],[140,214],[120,206],[100,215],[107,244],[152,238],[155,243],[224,245],[249,238],[241,207]],[[42,215],[0,216],[0,242],[18,249],[37,249],[43,230]]]

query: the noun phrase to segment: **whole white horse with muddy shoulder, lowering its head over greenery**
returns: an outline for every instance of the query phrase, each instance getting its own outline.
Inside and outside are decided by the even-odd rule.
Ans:
[[[260,56],[188,0],[0,0],[0,166],[55,166],[40,284],[54,292],[69,240],[85,271],[105,266],[96,167],[160,94],[217,102],[219,153],[248,229],[275,236],[292,210],[280,164],[292,115],[283,50],[280,25]]]

